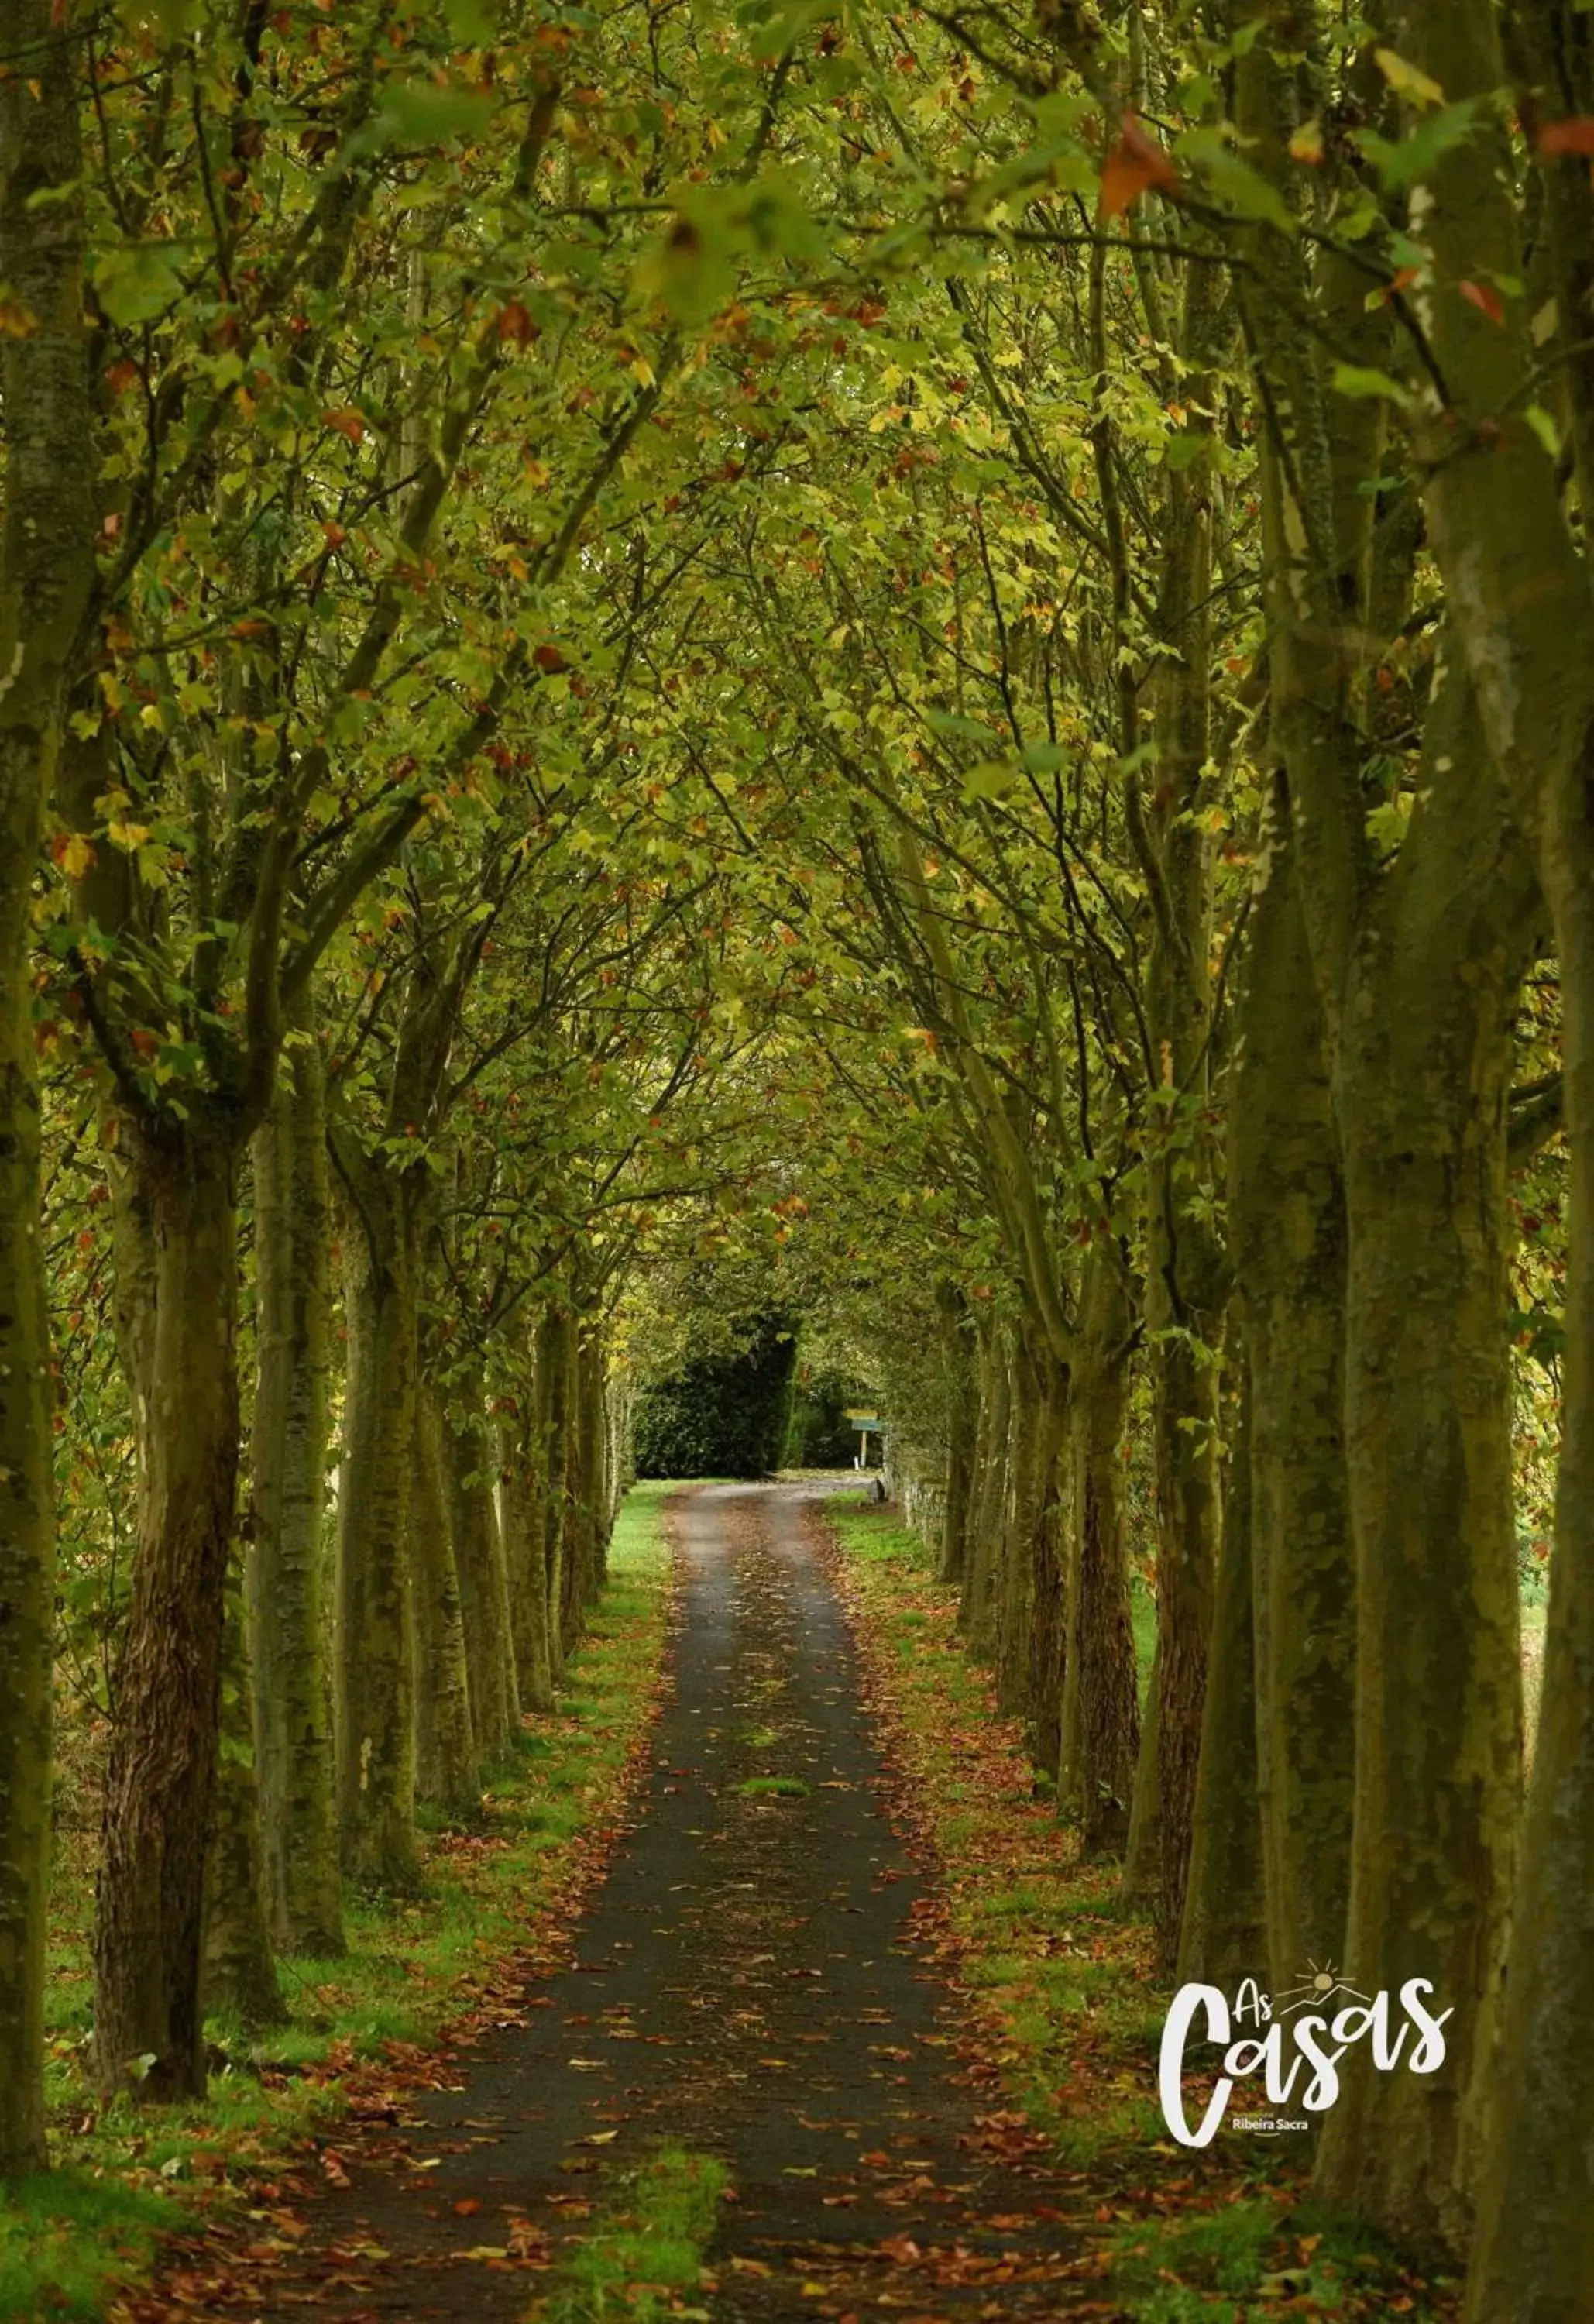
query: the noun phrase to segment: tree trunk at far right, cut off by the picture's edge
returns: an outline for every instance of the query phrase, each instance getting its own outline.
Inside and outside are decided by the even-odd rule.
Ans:
[[[1564,0],[1510,12],[1510,79],[1541,121],[1594,107],[1587,23]],[[1424,237],[1445,277],[1524,265],[1520,172],[1489,93],[1506,81],[1496,9],[1413,5],[1403,53],[1478,102],[1478,132],[1424,186]],[[1594,2282],[1594,611],[1587,507],[1594,372],[1587,346],[1589,177],[1541,146],[1536,265],[1552,297],[1513,300],[1471,332],[1443,311],[1436,337],[1457,379],[1455,442],[1489,428],[1489,453],[1427,462],[1427,509],[1445,602],[1478,688],[1494,762],[1534,834],[1561,974],[1564,1120],[1571,1148],[1566,1369],[1545,1680],[1513,1903],[1503,2036],[1485,2052],[1478,2222],[1469,2324],[1573,2324]],[[1450,304],[1450,302],[1448,302]],[[1529,335],[1529,314],[1534,330]],[[1538,316],[1550,318],[1548,344]],[[1543,379],[1543,388],[1541,388]],[[1575,518],[1557,460],[1524,411],[1571,407]],[[1499,418],[1496,418],[1499,416]],[[1450,414],[1445,416],[1450,421]],[[1501,425],[1503,418],[1503,425]],[[1575,528],[1575,530],[1573,530]]]

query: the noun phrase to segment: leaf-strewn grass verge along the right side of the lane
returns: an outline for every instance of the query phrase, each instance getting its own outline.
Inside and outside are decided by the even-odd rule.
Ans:
[[[1311,2210],[1283,2143],[1173,2145],[1155,2099],[1171,1989],[1118,1866],[1080,1859],[1018,1722],[964,1655],[957,1592],[899,1511],[843,1494],[827,1515],[864,1685],[906,1778],[899,1808],[941,1866],[948,1975],[1015,2101],[1013,2136],[1041,2136],[1060,2164],[1090,2243],[1080,2273],[1143,2324],[1455,2317],[1452,2284]]]

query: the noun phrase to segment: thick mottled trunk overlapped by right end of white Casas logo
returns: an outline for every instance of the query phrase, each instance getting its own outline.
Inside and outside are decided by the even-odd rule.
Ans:
[[[1457,883],[1417,897],[1452,927]],[[1417,918],[1417,913],[1413,913]],[[1510,918],[1380,962],[1348,1011],[1345,1455],[1357,1543],[1357,1776],[1348,1975],[1452,2008],[1434,2075],[1359,2045],[1317,2187],[1415,2243],[1469,2233],[1464,2110],[1487,2057],[1522,1792],[1510,1501],[1506,1090],[1520,953]],[[1371,999],[1371,995],[1369,995]]]

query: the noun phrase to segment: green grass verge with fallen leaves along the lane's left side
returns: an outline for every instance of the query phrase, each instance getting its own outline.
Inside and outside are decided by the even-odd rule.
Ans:
[[[237,2201],[235,2180],[272,2168],[346,2103],[344,2075],[435,2043],[500,1964],[555,1913],[579,1843],[618,1799],[648,1717],[665,1645],[672,1485],[625,1499],[609,1590],[572,1657],[558,1710],[532,1722],[483,1787],[469,1829],[428,1829],[423,1901],[349,1896],[349,1952],[283,1961],[288,2022],[251,2036],[207,2024],[221,2054],[202,2103],[98,2108],[86,2082],[93,1862],[67,1845],[53,1896],[46,2099],[56,2175],[0,2192],[0,2319],[93,2317],[109,2282],[137,2275],[160,2226]],[[65,2305],[63,2305],[65,2303]]]

